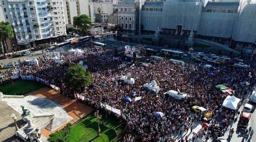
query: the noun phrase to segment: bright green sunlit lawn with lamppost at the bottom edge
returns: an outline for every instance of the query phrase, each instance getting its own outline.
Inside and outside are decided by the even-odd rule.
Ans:
[[[103,122],[106,123],[102,127]],[[125,127],[125,122],[116,118],[106,119],[102,115],[100,119],[101,136],[98,136],[98,123],[94,115],[90,115],[82,122],[71,128],[67,136],[67,142],[117,142],[117,136]]]

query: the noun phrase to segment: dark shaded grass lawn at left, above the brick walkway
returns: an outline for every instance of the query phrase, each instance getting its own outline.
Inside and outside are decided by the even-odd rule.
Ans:
[[[13,81],[13,85],[12,82],[1,85],[0,91],[5,95],[24,95],[42,87],[44,87],[44,85],[39,82],[18,79]]]

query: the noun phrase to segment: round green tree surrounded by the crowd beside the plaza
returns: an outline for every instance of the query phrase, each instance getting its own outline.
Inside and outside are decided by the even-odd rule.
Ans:
[[[79,64],[69,67],[68,72],[64,76],[64,82],[67,87],[70,87],[73,90],[80,90],[82,87],[85,87],[90,84],[91,75],[90,72],[87,72]]]

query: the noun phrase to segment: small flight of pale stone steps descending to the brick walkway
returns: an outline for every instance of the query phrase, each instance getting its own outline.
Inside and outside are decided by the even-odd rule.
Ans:
[[[56,130],[59,128],[61,125],[64,125],[65,123],[69,122],[73,118],[71,116],[66,116],[66,117],[54,117],[49,125],[47,125],[46,129],[49,131]]]

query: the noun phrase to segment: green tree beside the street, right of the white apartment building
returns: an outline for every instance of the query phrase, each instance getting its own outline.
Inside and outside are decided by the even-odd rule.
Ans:
[[[86,30],[90,25],[92,25],[92,21],[86,14],[73,17],[73,26],[81,31]]]

